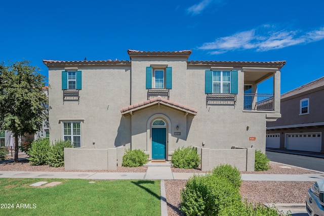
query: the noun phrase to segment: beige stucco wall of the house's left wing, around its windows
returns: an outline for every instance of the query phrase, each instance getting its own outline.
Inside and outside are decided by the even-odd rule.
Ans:
[[[82,90],[78,101],[63,103],[61,71],[49,70],[50,140],[63,139],[62,121],[81,121],[82,147],[113,148],[130,144],[130,119],[119,109],[130,103],[130,68],[79,67]],[[93,144],[94,143],[94,144]]]

